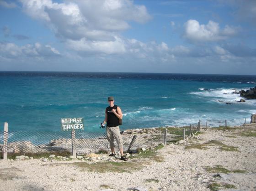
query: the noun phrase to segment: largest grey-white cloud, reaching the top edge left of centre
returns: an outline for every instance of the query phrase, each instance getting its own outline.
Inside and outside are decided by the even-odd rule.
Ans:
[[[69,48],[82,52],[123,53],[118,32],[128,29],[129,21],[144,23],[151,18],[144,5],[132,0],[20,1],[28,15],[44,21]]]

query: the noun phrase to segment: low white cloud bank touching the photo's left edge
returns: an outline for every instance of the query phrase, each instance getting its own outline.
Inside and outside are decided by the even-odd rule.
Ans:
[[[40,43],[18,46],[14,43],[0,43],[0,56],[6,58],[21,57],[59,57],[60,53],[50,45],[41,45]]]

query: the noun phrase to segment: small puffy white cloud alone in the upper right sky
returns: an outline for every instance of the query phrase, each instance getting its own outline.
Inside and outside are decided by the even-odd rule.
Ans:
[[[183,37],[193,42],[224,40],[237,33],[234,27],[228,25],[224,27],[224,30],[221,30],[219,23],[214,21],[208,21],[207,25],[200,25],[196,20],[188,20],[184,27]]]

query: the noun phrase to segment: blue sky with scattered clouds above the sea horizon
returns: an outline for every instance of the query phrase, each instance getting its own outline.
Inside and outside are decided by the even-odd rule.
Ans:
[[[0,0],[0,71],[256,75],[256,0]]]

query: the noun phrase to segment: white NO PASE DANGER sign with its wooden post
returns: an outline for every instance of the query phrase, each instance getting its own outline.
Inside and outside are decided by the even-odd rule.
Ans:
[[[61,118],[61,130],[71,131],[72,155],[76,157],[75,130],[84,130],[83,118]]]

